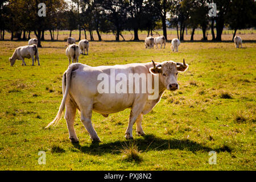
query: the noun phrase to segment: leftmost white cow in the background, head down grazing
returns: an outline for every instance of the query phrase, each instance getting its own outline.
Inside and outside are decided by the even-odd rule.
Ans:
[[[38,60],[38,65],[40,65],[39,55],[38,55],[38,46],[36,46],[36,44],[30,45],[30,46],[21,46],[16,48],[13,53],[13,56],[9,57],[9,61],[12,66],[14,65],[16,59],[22,60],[22,65],[26,66],[24,58],[30,58],[30,57],[32,58],[32,66],[34,66],[34,61],[36,61],[36,59]]]

